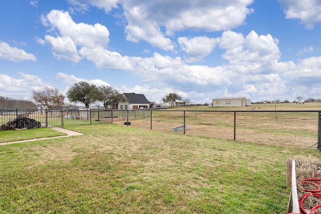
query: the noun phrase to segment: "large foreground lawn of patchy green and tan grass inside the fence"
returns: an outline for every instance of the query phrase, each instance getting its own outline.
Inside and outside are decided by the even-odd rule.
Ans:
[[[0,146],[0,213],[286,213],[286,160],[315,149],[112,124]]]

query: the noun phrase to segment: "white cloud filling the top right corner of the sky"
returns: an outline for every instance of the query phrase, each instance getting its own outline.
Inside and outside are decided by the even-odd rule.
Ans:
[[[315,0],[278,0],[287,19],[299,19],[306,29],[321,23],[321,2]]]

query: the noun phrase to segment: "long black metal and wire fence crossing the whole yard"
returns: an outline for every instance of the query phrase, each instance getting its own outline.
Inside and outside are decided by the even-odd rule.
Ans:
[[[173,134],[311,147],[321,152],[321,111],[16,109],[0,113],[0,125],[23,117],[42,127],[114,123]]]

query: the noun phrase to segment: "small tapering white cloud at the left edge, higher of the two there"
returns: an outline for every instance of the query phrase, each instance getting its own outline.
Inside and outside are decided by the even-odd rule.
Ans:
[[[0,59],[11,60],[14,62],[37,61],[35,55],[28,54],[24,50],[11,47],[8,43],[0,41]]]

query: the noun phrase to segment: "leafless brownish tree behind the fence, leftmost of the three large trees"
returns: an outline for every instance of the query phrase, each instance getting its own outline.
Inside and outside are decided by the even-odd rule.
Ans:
[[[46,86],[43,89],[33,90],[32,98],[41,109],[60,108],[64,104],[65,96],[56,88]]]

